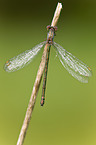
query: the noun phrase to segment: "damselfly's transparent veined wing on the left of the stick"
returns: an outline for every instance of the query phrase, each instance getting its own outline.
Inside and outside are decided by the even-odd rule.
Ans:
[[[34,56],[38,54],[41,48],[44,46],[45,42],[42,42],[35,47],[26,50],[25,52],[9,59],[6,61],[4,69],[8,72],[13,72],[23,68],[26,64],[29,64]]]

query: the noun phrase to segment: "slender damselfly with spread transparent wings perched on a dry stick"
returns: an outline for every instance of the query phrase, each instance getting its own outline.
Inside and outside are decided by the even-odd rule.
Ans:
[[[42,97],[41,97],[41,106],[44,104],[45,100],[45,88],[46,88],[46,79],[47,79],[47,71],[48,71],[48,61],[49,61],[49,53],[51,45],[56,50],[56,53],[59,57],[61,64],[64,68],[78,81],[82,83],[87,83],[90,76],[92,76],[91,69],[84,64],[82,61],[77,59],[74,55],[67,52],[62,46],[53,42],[55,32],[57,27],[47,26],[48,34],[47,41],[44,41],[35,47],[26,50],[25,52],[9,59],[4,66],[5,71],[13,72],[23,68],[25,65],[29,64],[33,58],[40,52],[41,48],[47,44],[47,55],[46,55],[46,63],[44,70],[44,80],[43,80],[43,89],[42,89]]]

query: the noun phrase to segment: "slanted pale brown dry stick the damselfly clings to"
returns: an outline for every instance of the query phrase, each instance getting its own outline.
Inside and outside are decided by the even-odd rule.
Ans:
[[[57,21],[59,19],[61,9],[62,9],[62,4],[58,3],[55,14],[54,14],[54,17],[53,17],[53,20],[52,20],[52,23],[51,23],[51,26],[56,26]],[[33,109],[34,109],[34,105],[35,105],[35,102],[36,102],[37,93],[38,93],[38,90],[39,90],[41,78],[42,78],[44,67],[45,67],[47,48],[49,46],[50,46],[50,44],[46,43],[46,45],[44,47],[44,52],[43,52],[43,55],[42,55],[41,63],[40,63],[40,66],[39,66],[39,69],[38,69],[38,72],[37,72],[36,80],[35,80],[35,83],[34,83],[34,86],[33,86],[33,91],[32,91],[31,98],[30,98],[30,101],[29,101],[29,104],[28,104],[25,119],[24,119],[24,122],[23,122],[23,125],[22,125],[22,128],[21,128],[21,132],[20,132],[20,135],[19,135],[19,138],[18,138],[18,141],[17,141],[17,145],[22,145],[23,142],[24,142],[24,138],[25,138],[25,135],[26,135],[26,132],[27,132],[27,128],[28,128],[28,125],[29,125],[29,122],[30,122],[30,119],[31,119],[31,116],[32,116],[32,112],[33,112]]]

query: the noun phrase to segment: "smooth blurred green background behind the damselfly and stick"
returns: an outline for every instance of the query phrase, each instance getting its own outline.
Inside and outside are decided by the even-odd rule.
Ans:
[[[57,0],[0,0],[0,145],[16,145],[43,50],[25,68],[4,63],[46,39]],[[54,39],[91,67],[88,84],[63,68],[52,47],[46,100],[42,84],[24,145],[96,145],[96,0],[64,0]]]

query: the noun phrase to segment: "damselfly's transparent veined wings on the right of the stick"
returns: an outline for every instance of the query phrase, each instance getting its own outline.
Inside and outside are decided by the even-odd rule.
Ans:
[[[66,70],[80,82],[88,83],[88,78],[92,76],[91,69],[56,42],[54,42],[53,46]]]

